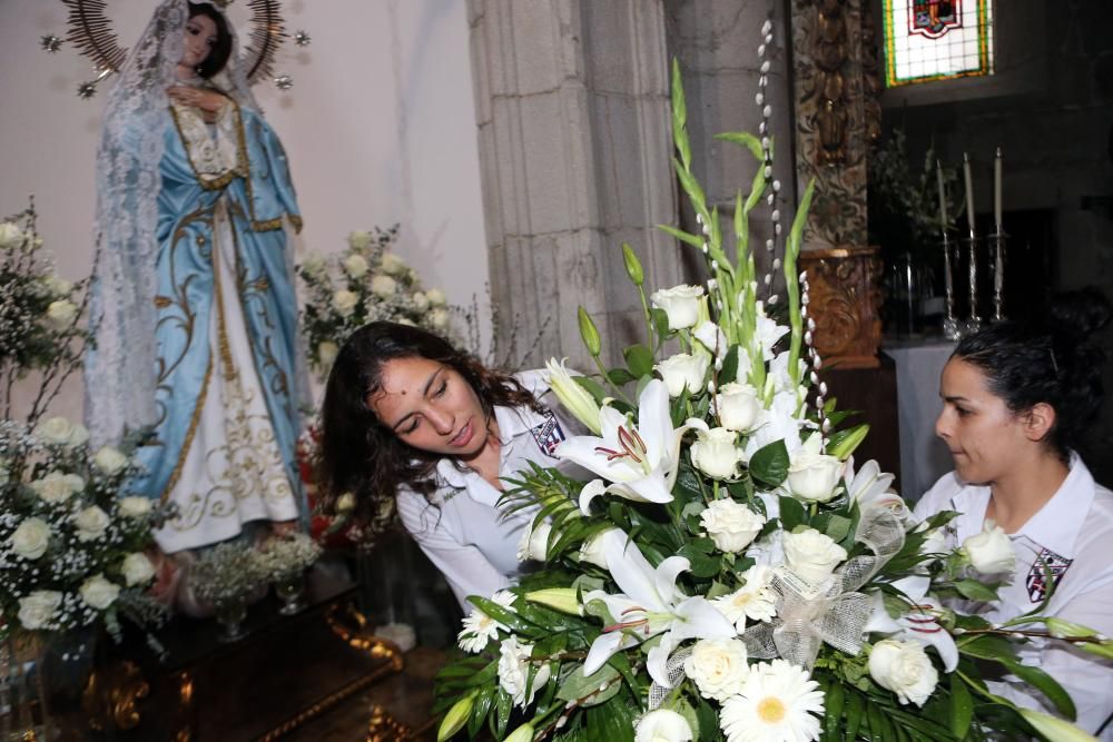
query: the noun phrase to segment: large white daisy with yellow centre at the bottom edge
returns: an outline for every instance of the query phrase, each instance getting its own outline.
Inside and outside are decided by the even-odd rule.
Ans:
[[[824,694],[808,671],[785,660],[750,669],[741,693],[722,704],[727,742],[809,742],[819,739]]]

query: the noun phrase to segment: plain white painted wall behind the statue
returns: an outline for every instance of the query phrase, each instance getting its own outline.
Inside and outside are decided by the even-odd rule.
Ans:
[[[122,43],[156,0],[109,0]],[[289,156],[305,229],[299,249],[335,251],[354,229],[401,222],[398,253],[455,304],[485,297],[474,100],[464,0],[292,0],[276,72],[294,79],[255,93]],[[232,6],[234,22],[246,2]],[[240,36],[245,36],[240,30]],[[59,273],[91,264],[93,167],[102,90],[80,100],[90,63],[71,44],[49,55],[40,37],[66,34],[57,0],[0,0],[0,215],[35,194],[39,229]],[[79,389],[60,412],[77,415]]]

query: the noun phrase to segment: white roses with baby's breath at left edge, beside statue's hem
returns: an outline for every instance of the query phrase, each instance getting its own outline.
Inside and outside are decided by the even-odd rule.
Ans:
[[[96,451],[88,437],[62,417],[33,429],[0,423],[0,610],[16,619],[7,631],[101,624],[118,640],[121,617],[140,626],[165,619],[147,593],[155,567],[146,554],[165,513],[119,497],[139,471],[137,436]]]

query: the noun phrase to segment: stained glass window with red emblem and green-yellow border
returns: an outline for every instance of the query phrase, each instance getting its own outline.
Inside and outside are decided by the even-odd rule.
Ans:
[[[991,0],[884,0],[887,87],[993,72]]]

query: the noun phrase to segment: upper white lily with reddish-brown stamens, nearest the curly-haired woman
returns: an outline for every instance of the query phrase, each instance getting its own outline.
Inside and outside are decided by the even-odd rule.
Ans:
[[[669,393],[664,383],[653,379],[638,398],[638,423],[613,407],[599,410],[600,437],[579,435],[556,447],[556,456],[567,458],[612,484],[607,492],[642,503],[672,502],[672,485],[680,463],[680,439],[687,426],[672,427]],[[589,493],[588,501],[598,491]],[[580,506],[587,503],[581,496]]]

